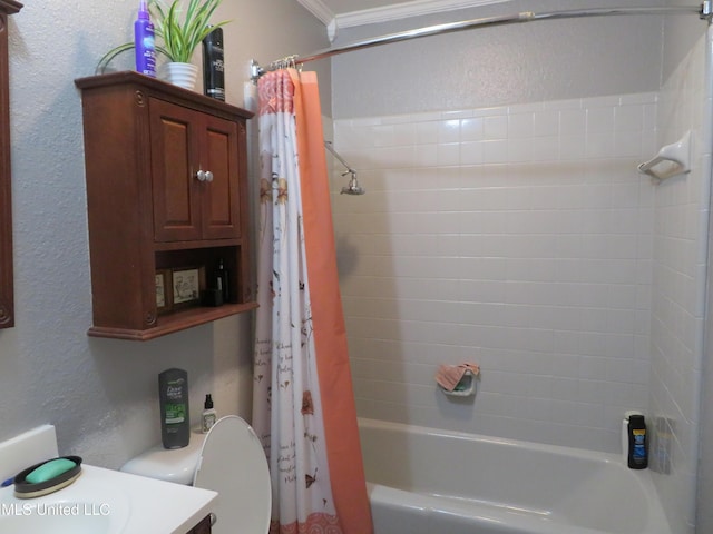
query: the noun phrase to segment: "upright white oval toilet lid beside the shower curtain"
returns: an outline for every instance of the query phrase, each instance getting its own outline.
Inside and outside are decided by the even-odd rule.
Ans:
[[[205,436],[193,485],[218,492],[212,534],[265,534],[272,491],[260,438],[242,418],[218,419]]]

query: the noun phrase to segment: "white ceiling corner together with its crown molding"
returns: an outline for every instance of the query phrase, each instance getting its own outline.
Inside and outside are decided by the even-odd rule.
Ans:
[[[297,0],[328,28],[330,39],[338,28],[384,22],[507,0]]]

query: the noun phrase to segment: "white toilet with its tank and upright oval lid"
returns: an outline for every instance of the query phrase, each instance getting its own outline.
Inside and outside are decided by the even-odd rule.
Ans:
[[[218,419],[207,434],[191,433],[188,446],[160,444],[129,459],[123,472],[218,492],[212,534],[266,534],[272,492],[260,438],[236,415]]]

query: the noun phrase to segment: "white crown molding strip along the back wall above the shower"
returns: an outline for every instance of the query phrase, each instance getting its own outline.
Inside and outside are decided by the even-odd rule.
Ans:
[[[320,0],[299,0],[300,3]],[[335,16],[336,28],[353,28],[356,26],[387,22],[390,20],[407,19],[424,14],[442,13],[457,9],[473,8],[504,3],[508,0],[412,0],[410,2],[395,3],[383,8],[363,9]],[[320,2],[321,3],[321,2]],[[309,8],[307,8],[309,9]]]

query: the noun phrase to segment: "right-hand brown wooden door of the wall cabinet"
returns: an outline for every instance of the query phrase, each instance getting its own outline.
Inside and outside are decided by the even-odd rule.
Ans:
[[[203,238],[240,237],[237,123],[206,116],[202,161],[212,175],[202,184]]]

